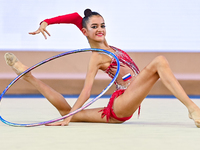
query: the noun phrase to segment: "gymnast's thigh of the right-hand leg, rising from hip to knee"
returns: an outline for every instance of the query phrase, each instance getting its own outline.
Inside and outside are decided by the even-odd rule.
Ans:
[[[158,80],[157,74],[142,71],[129,85],[125,92],[114,101],[113,109],[117,117],[131,116],[148,95]]]

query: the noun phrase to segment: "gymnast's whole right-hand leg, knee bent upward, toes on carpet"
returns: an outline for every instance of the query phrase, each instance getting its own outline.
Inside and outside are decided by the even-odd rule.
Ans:
[[[132,81],[124,94],[115,100],[114,111],[116,115],[118,117],[132,115],[159,78],[172,94],[187,107],[189,117],[194,120],[197,127],[200,127],[199,107],[187,96],[163,56],[156,57],[147,65]]]

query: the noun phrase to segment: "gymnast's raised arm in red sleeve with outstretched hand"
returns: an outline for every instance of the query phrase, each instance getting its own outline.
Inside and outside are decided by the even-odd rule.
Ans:
[[[74,24],[76,25],[80,30],[82,29],[82,17],[78,13],[71,13],[66,14],[62,16],[57,16],[54,18],[45,19],[40,23],[40,27],[35,32],[30,32],[29,34],[35,35],[42,33],[44,38],[47,39],[47,36],[45,32],[50,36],[49,32],[46,30],[46,27],[51,24],[61,24],[61,23],[67,23],[67,24]]]

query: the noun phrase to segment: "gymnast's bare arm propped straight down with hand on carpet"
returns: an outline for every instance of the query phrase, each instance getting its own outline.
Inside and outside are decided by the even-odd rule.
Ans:
[[[91,93],[91,89],[92,89],[92,86],[94,83],[94,78],[100,68],[100,65],[101,65],[101,60],[102,60],[101,58],[102,58],[102,56],[100,54],[98,54],[97,52],[92,52],[92,56],[90,58],[84,87],[70,112],[73,112],[73,111],[77,110],[78,108],[80,108],[90,98],[90,93]],[[48,126],[66,126],[69,124],[71,119],[72,119],[72,116],[65,118],[61,122],[55,122],[55,123],[48,124]]]

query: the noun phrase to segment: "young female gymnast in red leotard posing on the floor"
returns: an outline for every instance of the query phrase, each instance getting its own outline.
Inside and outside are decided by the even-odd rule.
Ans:
[[[84,14],[84,18],[82,18],[78,13],[73,13],[46,19],[40,24],[37,31],[31,32],[30,34],[35,35],[42,33],[44,37],[47,38],[45,33],[50,35],[46,30],[46,27],[49,24],[75,24],[87,37],[91,48],[105,49],[115,53],[119,58],[121,67],[116,80],[116,91],[111,96],[107,107],[85,109],[64,119],[63,121],[48,125],[65,126],[68,125],[70,121],[122,123],[131,118],[133,113],[139,108],[141,102],[149,93],[152,86],[160,78],[172,94],[187,107],[189,117],[194,120],[197,127],[200,127],[199,107],[187,96],[179,82],[174,77],[167,60],[163,56],[156,57],[141,72],[139,72],[139,69],[127,53],[108,45],[105,39],[106,29],[103,17],[99,13],[92,12],[89,9],[86,9]],[[20,74],[28,68],[11,53],[6,53],[5,59],[6,63],[10,65],[17,74]],[[105,71],[105,73],[112,78],[116,73],[116,62],[107,55],[92,52],[84,87],[73,107],[70,107],[61,94],[36,79],[31,72],[26,74],[23,79],[35,86],[41,94],[43,94],[49,102],[57,108],[61,115],[66,115],[69,112],[80,108],[89,99],[98,69]]]

